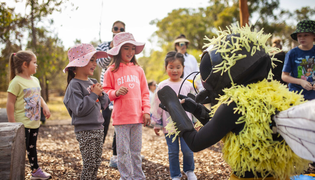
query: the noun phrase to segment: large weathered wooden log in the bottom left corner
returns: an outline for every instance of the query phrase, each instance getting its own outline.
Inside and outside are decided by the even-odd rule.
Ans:
[[[0,178],[25,179],[25,128],[22,123],[0,123]]]

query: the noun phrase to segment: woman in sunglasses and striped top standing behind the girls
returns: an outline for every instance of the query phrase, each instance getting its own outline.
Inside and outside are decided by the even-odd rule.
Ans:
[[[122,21],[116,21],[114,22],[112,26],[112,32],[113,32],[113,37],[120,33],[125,31],[125,23]],[[103,42],[100,44],[96,50],[97,51],[108,51],[113,47],[113,41],[108,41],[108,42]],[[101,74],[100,74],[100,84],[103,84],[104,81],[104,74],[107,69],[108,64],[111,62],[111,57],[106,57],[106,58],[99,58],[96,59],[97,65],[102,69]],[[109,127],[109,122],[112,116],[112,103],[105,109],[102,110],[102,115],[104,118],[104,138],[103,138],[103,143],[105,142],[105,137],[108,131]],[[113,144],[112,144],[112,150],[113,150],[113,156],[111,157],[111,160],[109,162],[109,166],[111,167],[117,167],[117,150],[116,150],[116,134],[114,134],[113,138]]]

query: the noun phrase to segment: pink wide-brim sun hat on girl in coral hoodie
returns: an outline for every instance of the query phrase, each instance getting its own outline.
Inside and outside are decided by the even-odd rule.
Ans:
[[[119,53],[121,46],[127,43],[136,46],[135,54],[139,54],[143,50],[144,45],[146,44],[144,42],[136,42],[134,36],[129,32],[120,32],[114,36],[113,38],[114,47],[107,51],[108,56],[109,57],[116,56]]]

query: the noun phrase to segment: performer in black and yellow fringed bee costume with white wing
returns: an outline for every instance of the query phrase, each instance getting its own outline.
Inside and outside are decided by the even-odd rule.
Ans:
[[[315,101],[304,102],[303,95],[272,80],[277,59],[270,55],[280,50],[266,46],[271,34],[231,25],[217,36],[205,37],[210,42],[199,67],[205,89],[187,95],[192,98],[177,96],[168,86],[157,92],[169,124],[194,152],[222,139],[231,180],[289,180],[302,174],[315,160]],[[202,105],[210,102],[216,104],[212,111]],[[185,111],[202,124],[198,132]]]

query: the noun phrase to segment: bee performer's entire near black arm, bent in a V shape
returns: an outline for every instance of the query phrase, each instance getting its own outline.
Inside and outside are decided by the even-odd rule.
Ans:
[[[197,132],[171,87],[164,86],[157,91],[157,95],[176,123],[177,131],[180,131],[179,137],[184,137],[193,152],[204,150],[220,141],[228,132],[238,133],[243,128],[243,124],[235,123],[241,115],[233,113],[233,108],[236,107],[234,102],[229,105],[222,104],[212,119]]]

